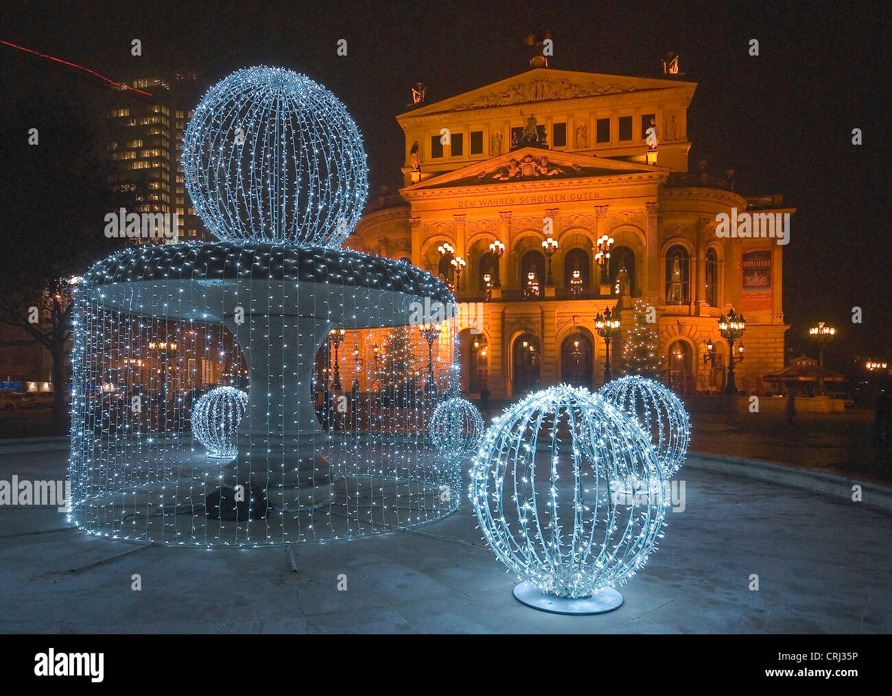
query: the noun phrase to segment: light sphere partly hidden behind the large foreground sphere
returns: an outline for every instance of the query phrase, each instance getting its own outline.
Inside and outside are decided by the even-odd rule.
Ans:
[[[690,416],[671,389],[637,374],[608,381],[601,397],[635,416],[650,435],[667,479],[681,469],[690,444]]]

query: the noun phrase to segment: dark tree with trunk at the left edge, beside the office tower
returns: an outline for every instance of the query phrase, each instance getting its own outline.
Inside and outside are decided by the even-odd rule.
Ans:
[[[123,241],[105,237],[103,218],[132,201],[116,192],[100,113],[85,110],[79,98],[66,101],[45,92],[16,96],[0,119],[0,323],[18,327],[24,338],[0,346],[49,351],[54,430],[62,433],[68,422],[70,279],[120,248]],[[32,128],[37,144],[29,143]]]

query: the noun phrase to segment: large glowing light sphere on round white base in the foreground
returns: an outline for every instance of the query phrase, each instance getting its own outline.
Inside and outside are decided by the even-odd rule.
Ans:
[[[640,425],[587,389],[537,391],[486,431],[470,497],[517,600],[566,614],[616,609],[647,561],[668,497]]]

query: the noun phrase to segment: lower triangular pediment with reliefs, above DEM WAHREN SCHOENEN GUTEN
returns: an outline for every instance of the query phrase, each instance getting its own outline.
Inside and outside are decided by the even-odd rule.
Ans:
[[[606,157],[522,147],[491,157],[489,160],[432,176],[412,184],[403,193],[460,186],[512,184],[555,179],[593,179],[602,176],[635,176],[659,174],[669,170],[637,162],[612,160]]]

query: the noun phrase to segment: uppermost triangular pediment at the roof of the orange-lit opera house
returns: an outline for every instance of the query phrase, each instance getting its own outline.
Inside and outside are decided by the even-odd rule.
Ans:
[[[696,86],[696,83],[682,82],[676,79],[630,78],[596,72],[538,68],[464,94],[457,94],[440,102],[428,104],[404,113],[398,119],[430,116],[447,111],[489,109],[534,102],[677,89],[679,87],[688,87],[693,94]]]

